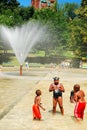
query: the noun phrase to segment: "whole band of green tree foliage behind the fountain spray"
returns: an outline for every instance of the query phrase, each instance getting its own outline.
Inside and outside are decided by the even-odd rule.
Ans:
[[[47,27],[45,42],[40,41],[34,50],[45,51],[45,56],[87,55],[87,0],[82,0],[80,7],[75,3],[59,7],[55,3],[53,9],[40,10],[21,7],[17,0],[0,0],[0,24],[13,27],[30,20]],[[0,48],[4,49],[2,43]]]

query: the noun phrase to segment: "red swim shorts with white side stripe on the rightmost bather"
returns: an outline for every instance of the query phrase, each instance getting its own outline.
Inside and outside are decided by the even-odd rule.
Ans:
[[[77,102],[74,109],[74,116],[83,119],[86,102]]]

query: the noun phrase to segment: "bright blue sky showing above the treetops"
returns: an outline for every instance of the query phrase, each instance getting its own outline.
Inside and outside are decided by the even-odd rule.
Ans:
[[[21,6],[30,6],[31,5],[31,0],[17,0]],[[81,0],[58,0],[59,3],[65,3],[65,2],[75,2],[75,3],[81,3]]]

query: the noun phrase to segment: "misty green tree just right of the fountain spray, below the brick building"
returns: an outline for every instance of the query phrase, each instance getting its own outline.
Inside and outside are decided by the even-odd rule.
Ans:
[[[36,10],[33,18],[47,26],[47,32],[44,36],[46,41],[38,44],[37,48],[43,48],[46,55],[51,54],[51,52],[54,52],[54,55],[62,55],[67,46],[64,35],[67,32],[64,10],[58,9],[57,12],[49,8]],[[60,50],[61,53],[59,53]]]

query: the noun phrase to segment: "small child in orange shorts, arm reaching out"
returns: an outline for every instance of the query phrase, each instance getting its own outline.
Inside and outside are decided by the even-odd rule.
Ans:
[[[32,111],[33,111],[33,119],[36,120],[41,120],[41,113],[40,113],[40,108],[42,108],[45,111],[45,108],[41,105],[41,90],[37,89],[36,90],[36,96],[34,99],[34,105],[32,106]]]

